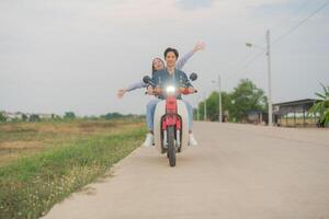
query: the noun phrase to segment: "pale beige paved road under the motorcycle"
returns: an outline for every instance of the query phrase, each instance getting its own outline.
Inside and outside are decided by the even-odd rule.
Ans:
[[[327,219],[329,130],[196,123],[177,166],[152,148],[45,218]]]

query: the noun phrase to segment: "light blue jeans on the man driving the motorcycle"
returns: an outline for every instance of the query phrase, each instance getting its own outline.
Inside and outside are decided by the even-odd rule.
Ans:
[[[161,100],[159,99],[154,99],[150,100],[146,106],[146,122],[147,122],[147,127],[149,130],[154,130],[155,127],[155,112],[156,112],[156,106],[157,104],[160,102]],[[189,112],[189,130],[192,130],[192,126],[193,126],[193,107],[192,105],[188,102],[182,100],[188,108]]]

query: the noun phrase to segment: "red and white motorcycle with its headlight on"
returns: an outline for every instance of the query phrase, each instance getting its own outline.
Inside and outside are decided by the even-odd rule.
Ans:
[[[196,79],[196,73],[190,76],[190,80]],[[143,81],[155,87],[148,76],[144,77]],[[188,88],[168,85],[164,89],[155,88],[151,94],[164,96],[164,100],[160,101],[156,107],[154,136],[157,150],[160,153],[167,153],[170,166],[175,166],[175,153],[186,150],[189,143],[189,113],[185,103],[178,100],[177,95],[192,93]]]

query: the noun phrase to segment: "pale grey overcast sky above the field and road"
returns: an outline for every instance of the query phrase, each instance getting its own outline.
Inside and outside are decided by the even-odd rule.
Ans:
[[[181,55],[198,41],[184,71],[198,95],[231,91],[242,78],[268,91],[265,55],[249,60],[325,0],[1,0],[0,111],[79,115],[145,112],[144,90],[116,91],[150,73],[168,47]],[[329,7],[272,45],[273,102],[315,97],[329,83]]]

